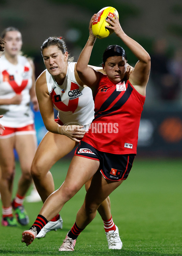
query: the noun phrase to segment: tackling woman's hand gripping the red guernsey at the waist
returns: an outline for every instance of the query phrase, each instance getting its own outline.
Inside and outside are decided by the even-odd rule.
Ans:
[[[80,142],[86,133],[86,130],[82,129],[83,127],[80,125],[61,125],[58,127],[58,132],[74,141]]]

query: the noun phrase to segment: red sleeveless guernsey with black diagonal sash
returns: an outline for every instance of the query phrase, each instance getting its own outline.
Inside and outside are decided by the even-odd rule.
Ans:
[[[83,141],[111,154],[136,154],[145,96],[125,80],[113,84],[102,75],[94,93],[95,118]]]

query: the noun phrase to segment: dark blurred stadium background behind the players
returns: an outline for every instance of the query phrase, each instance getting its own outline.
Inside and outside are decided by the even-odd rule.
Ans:
[[[22,52],[33,58],[36,77],[45,69],[40,46],[49,36],[62,36],[77,61],[87,38],[93,13],[112,5],[123,30],[151,55],[147,97],[140,122],[138,156],[179,157],[182,153],[182,2],[180,0],[0,0],[0,31],[19,28]],[[100,65],[110,44],[126,49],[130,65],[133,54],[113,34],[98,39],[90,64]],[[55,113],[56,115],[56,113]],[[35,113],[38,142],[46,133],[40,113]],[[72,156],[72,154],[70,155]]]

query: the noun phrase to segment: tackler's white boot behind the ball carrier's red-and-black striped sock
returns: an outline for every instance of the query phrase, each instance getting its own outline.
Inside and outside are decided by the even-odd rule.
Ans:
[[[62,218],[59,215],[59,219],[57,221],[49,221],[39,232],[39,234],[36,236],[36,238],[42,238],[45,237],[46,233],[48,233],[51,230],[57,231],[57,229],[62,229]]]

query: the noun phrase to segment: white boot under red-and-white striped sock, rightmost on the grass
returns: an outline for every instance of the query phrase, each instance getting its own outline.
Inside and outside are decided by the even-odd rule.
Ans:
[[[115,225],[116,226],[116,225]],[[108,248],[109,249],[118,249],[120,250],[123,246],[120,236],[119,236],[119,230],[116,226],[116,230],[106,232],[107,242],[108,242]]]

